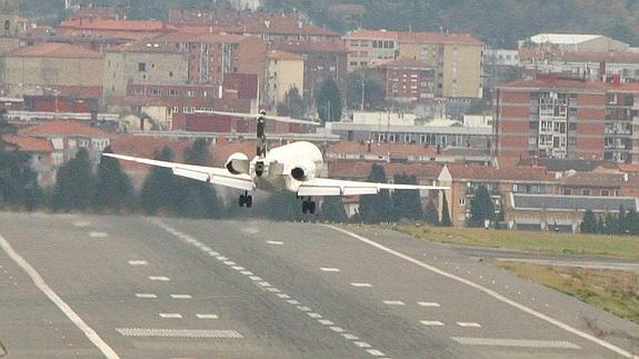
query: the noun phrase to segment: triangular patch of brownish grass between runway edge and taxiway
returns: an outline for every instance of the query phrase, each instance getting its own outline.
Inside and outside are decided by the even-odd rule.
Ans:
[[[639,275],[511,261],[493,265],[639,323]]]

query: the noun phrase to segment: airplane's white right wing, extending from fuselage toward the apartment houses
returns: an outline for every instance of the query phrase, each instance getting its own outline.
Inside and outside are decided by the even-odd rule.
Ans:
[[[408,190],[447,190],[448,187],[419,186],[419,185],[392,185],[359,181],[342,181],[328,178],[313,178],[302,182],[298,189],[298,196],[361,196],[377,195],[382,189],[408,189]]]

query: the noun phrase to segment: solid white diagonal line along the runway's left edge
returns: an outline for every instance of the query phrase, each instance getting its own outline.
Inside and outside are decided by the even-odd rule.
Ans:
[[[118,353],[111,348],[100,336],[89,327],[80,316],[78,316],[67,302],[64,302],[54,291],[44,282],[44,279],[38,273],[38,271],[27,262],[27,260],[20,256],[13,247],[2,237],[0,236],[0,247],[4,250],[7,256],[11,258],[22,270],[31,278],[36,287],[40,289],[48,298],[51,300],[63,313],[71,320],[71,322],[80,329],[87,338],[98,348],[100,351],[108,358],[108,359],[117,359],[120,358]]]

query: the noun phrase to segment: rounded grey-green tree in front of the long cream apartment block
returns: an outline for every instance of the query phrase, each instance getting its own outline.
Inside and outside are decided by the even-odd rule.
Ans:
[[[386,99],[386,83],[379,72],[369,68],[359,68],[347,76],[347,99],[349,107],[360,109],[362,104],[363,84],[363,108],[382,109]]]

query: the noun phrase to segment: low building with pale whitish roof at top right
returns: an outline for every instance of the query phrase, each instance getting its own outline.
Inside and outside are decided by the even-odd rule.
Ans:
[[[546,47],[559,51],[627,51],[628,43],[602,34],[539,33],[519,41],[519,48]]]

